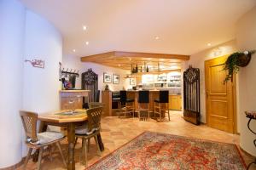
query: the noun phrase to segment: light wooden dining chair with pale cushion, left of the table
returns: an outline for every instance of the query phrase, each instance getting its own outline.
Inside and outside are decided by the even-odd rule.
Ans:
[[[62,133],[58,132],[44,132],[37,133],[37,121],[38,114],[29,112],[29,111],[20,111],[20,117],[23,123],[23,127],[26,133],[26,146],[29,148],[26,160],[24,163],[24,169],[26,169],[27,162],[32,155],[32,150],[39,150],[38,157],[38,170],[41,168],[41,161],[44,152],[44,147],[49,147],[49,153],[51,156],[52,146],[56,144],[57,148],[60,150],[61,157],[65,167],[67,167],[67,163],[63,156],[61,150],[61,140],[65,139],[65,136]],[[52,157],[50,157],[50,160]]]

